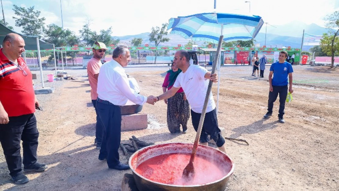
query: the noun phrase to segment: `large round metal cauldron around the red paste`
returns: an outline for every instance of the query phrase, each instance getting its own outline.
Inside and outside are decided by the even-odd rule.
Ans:
[[[142,162],[149,158],[170,153],[191,153],[192,148],[193,144],[167,143],[148,146],[135,152],[131,156],[131,158],[129,158],[128,163],[133,171],[133,176],[137,188],[140,191],[224,191],[228,183],[228,180],[230,179],[230,176],[233,173],[234,164],[232,159],[228,157],[225,153],[212,147],[199,145],[197,149],[197,154],[204,155],[208,158],[213,157],[214,160],[218,162],[220,168],[228,166],[231,168],[231,171],[225,174],[221,179],[211,183],[189,186],[169,185],[154,182],[150,179],[143,177],[142,175],[135,171],[138,165],[140,165]],[[213,172],[207,172],[206,176],[208,176],[208,173]]]

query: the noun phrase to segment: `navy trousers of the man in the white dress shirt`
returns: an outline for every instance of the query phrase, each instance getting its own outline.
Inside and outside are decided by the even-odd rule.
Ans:
[[[103,125],[100,158],[107,158],[109,168],[120,163],[121,109],[108,101],[97,99],[97,109]]]

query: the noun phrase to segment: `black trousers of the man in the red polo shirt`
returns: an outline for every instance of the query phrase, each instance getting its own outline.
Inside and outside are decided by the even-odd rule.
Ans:
[[[33,165],[37,161],[39,132],[35,115],[27,114],[9,117],[7,124],[0,124],[0,142],[9,170],[14,176],[21,172],[20,140],[22,140],[23,165]]]

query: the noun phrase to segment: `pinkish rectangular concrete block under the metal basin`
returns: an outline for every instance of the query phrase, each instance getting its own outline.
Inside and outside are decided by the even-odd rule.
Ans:
[[[147,114],[121,116],[121,131],[146,129],[147,124]]]

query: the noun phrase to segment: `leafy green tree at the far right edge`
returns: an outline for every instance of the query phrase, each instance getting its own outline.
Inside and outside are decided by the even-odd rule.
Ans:
[[[332,15],[327,15],[324,20],[328,33],[323,34],[320,46],[323,52],[332,57],[331,68],[333,68],[334,55],[339,52],[339,11],[334,12]]]

